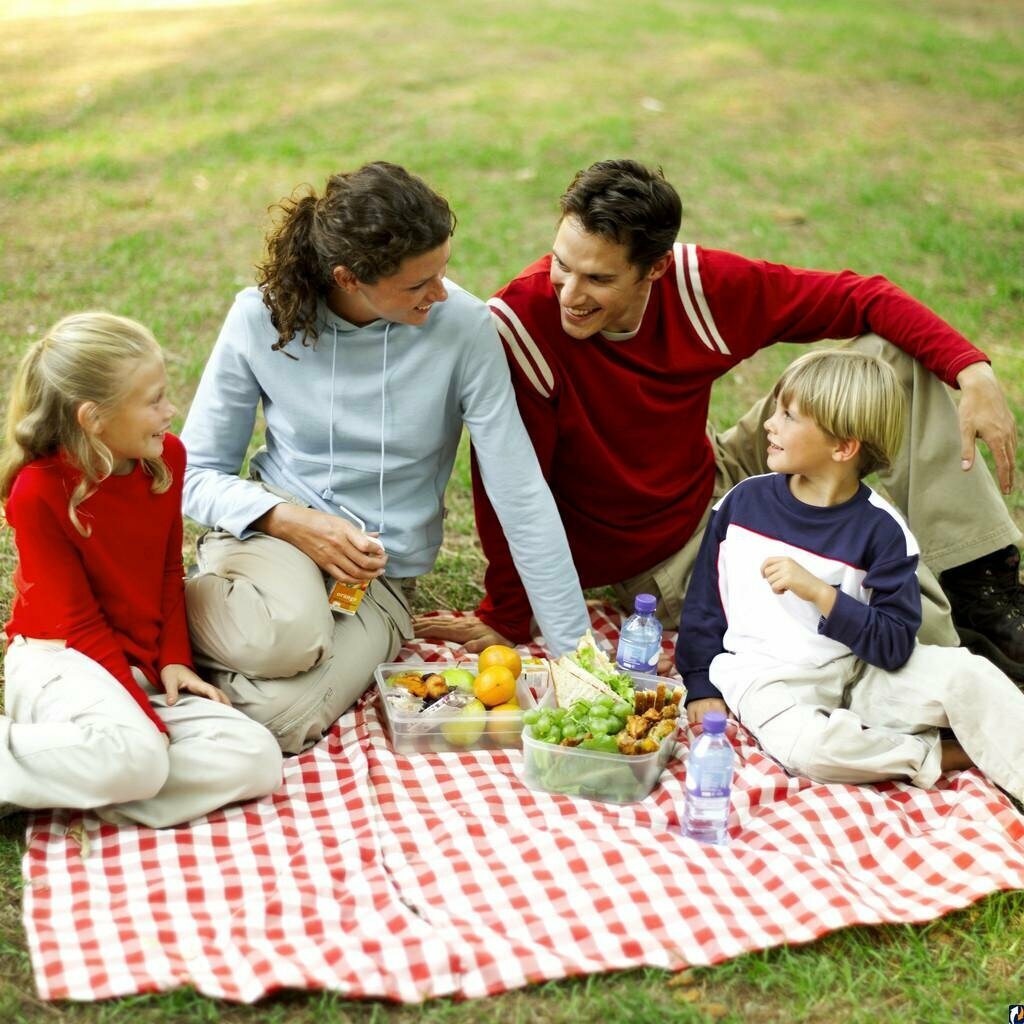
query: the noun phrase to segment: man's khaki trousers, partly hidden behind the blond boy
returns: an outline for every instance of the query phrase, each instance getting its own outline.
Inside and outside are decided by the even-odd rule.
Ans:
[[[865,334],[845,347],[877,355],[899,377],[907,395],[907,427],[892,469],[880,480],[892,503],[906,517],[921,546],[923,622],[918,639],[944,647],[959,645],[937,575],[1008,544],[1017,544],[1020,530],[1007,511],[1002,496],[984,460],[977,458],[968,472],[959,468],[959,422],[952,392],[934,374],[902,349],[874,334]],[[730,487],[759,473],[767,473],[767,439],[763,424],[774,412],[767,394],[729,430],[709,427],[715,445],[715,490],[693,536],[665,561],[615,586],[620,600],[632,607],[644,592],[658,597],[657,613],[669,628],[679,625],[683,598],[696,560],[711,507]]]

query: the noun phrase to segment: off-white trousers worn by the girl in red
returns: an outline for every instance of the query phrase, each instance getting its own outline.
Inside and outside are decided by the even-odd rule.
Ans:
[[[16,637],[4,673],[2,801],[161,828],[281,783],[270,733],[215,700],[186,693],[169,708],[136,670],[168,739],[101,665],[60,641]]]

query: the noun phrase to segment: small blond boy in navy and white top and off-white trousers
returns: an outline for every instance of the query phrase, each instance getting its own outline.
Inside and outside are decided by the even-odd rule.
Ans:
[[[918,544],[862,482],[902,437],[895,374],[863,353],[811,352],[774,395],[773,472],[715,506],[683,606],[690,721],[727,705],[766,753],[818,781],[928,787],[976,765],[1024,799],[1024,694],[965,648],[916,644]],[[940,738],[946,727],[955,739]]]

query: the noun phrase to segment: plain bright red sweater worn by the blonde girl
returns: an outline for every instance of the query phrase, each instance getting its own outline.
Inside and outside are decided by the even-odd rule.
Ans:
[[[172,475],[164,494],[153,493],[153,477],[136,464],[78,506],[89,537],[68,515],[81,477],[62,456],[29,463],[5,512],[18,555],[8,639],[66,640],[106,669],[166,732],[131,674],[139,668],[159,687],[165,665],[193,665],[181,564],[185,450],[172,434],[164,460]]]

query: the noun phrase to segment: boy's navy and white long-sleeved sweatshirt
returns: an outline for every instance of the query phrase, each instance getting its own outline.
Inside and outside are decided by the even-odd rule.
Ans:
[[[790,557],[837,589],[825,617],[775,594],[766,558]],[[780,473],[751,477],[714,508],[679,624],[676,665],[687,702],[735,709],[760,667],[818,668],[851,653],[895,670],[921,625],[919,549],[900,514],[866,484],[841,505],[806,505]]]

